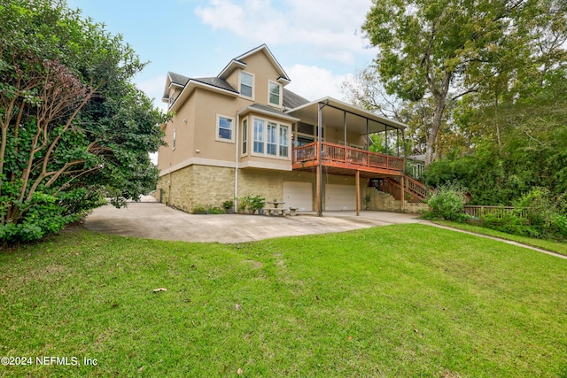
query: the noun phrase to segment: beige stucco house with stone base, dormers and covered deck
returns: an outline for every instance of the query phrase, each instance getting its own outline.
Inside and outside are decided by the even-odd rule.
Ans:
[[[404,190],[396,203],[369,183],[403,186],[403,158],[369,152],[368,135],[405,125],[330,97],[308,101],[290,82],[265,44],[214,77],[168,73],[163,101],[175,116],[161,126],[156,197],[187,212],[245,195],[304,212],[402,210]]]

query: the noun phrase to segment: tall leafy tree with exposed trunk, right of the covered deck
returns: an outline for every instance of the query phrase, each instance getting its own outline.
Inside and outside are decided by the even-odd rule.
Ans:
[[[535,0],[375,0],[363,29],[380,48],[377,71],[389,95],[433,101],[426,164],[447,104],[509,70],[511,57],[529,56],[527,20]]]

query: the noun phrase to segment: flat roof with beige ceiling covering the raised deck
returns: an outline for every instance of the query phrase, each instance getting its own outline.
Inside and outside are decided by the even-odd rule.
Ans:
[[[300,105],[286,113],[299,118],[302,122],[317,125],[320,105],[324,105],[322,123],[325,127],[343,128],[346,124],[349,131],[358,135],[381,133],[386,128],[404,130],[407,127],[396,120],[390,120],[330,96]]]

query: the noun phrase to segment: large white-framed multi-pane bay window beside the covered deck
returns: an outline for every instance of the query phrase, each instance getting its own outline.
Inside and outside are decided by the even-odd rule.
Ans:
[[[252,155],[289,159],[291,143],[289,125],[259,118],[253,118],[253,125]]]

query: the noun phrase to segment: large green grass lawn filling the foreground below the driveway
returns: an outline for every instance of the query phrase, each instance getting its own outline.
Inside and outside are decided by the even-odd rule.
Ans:
[[[231,245],[72,228],[0,252],[2,356],[33,364],[0,377],[566,378],[567,260],[418,224]]]

